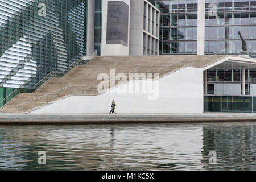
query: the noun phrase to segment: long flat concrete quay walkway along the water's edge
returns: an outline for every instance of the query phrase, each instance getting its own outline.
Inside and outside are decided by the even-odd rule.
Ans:
[[[256,113],[204,114],[0,114],[0,125],[251,122]]]

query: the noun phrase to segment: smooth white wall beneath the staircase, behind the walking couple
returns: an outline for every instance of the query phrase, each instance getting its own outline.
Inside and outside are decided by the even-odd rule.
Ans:
[[[118,90],[129,87],[135,82],[138,81],[131,81],[100,96],[70,96],[33,113],[108,114],[112,100],[115,100],[116,111],[119,114],[203,113],[203,69],[201,68],[184,68],[160,78],[159,94],[158,90],[155,90],[155,96],[159,97],[155,100],[148,99],[152,94],[117,93]],[[154,84],[157,84],[157,81],[154,81]]]

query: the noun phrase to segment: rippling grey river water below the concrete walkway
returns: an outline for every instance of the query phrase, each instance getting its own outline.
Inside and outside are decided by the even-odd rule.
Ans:
[[[255,150],[253,122],[0,126],[1,170],[255,170]]]

